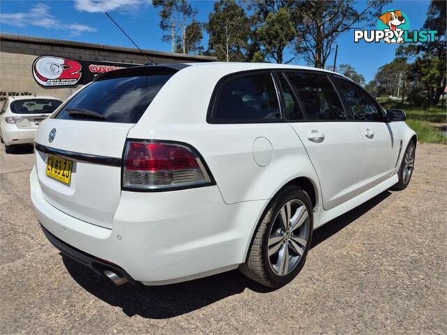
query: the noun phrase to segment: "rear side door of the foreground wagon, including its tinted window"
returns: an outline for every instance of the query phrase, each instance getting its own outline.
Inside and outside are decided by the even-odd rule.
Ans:
[[[328,75],[311,71],[284,75],[280,80],[286,110],[291,98],[302,110],[302,114],[287,112],[288,122],[318,174],[324,209],[332,209],[360,192],[363,161],[360,131],[356,123],[348,121]]]

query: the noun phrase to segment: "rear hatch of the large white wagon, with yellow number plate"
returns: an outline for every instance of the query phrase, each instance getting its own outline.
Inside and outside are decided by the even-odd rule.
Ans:
[[[127,134],[175,72],[152,66],[101,75],[46,119],[36,135],[45,200],[70,216],[112,228]]]

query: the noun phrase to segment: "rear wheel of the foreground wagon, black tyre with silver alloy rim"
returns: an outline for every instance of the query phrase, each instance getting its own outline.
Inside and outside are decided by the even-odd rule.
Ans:
[[[240,271],[270,288],[290,283],[305,264],[313,227],[309,195],[286,186],[265,209]]]

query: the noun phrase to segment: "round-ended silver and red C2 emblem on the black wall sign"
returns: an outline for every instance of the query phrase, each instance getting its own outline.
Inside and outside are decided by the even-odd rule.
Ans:
[[[34,79],[44,87],[71,86],[81,79],[82,66],[78,61],[42,56],[33,64]]]

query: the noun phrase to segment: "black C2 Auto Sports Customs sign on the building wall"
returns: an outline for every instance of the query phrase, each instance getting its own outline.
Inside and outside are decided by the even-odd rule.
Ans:
[[[88,84],[98,73],[138,65],[140,64],[81,61],[54,56],[41,56],[34,61],[33,76],[36,82],[43,87],[67,87]]]

